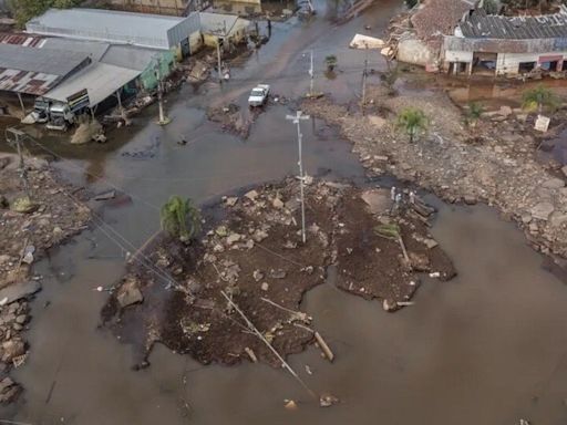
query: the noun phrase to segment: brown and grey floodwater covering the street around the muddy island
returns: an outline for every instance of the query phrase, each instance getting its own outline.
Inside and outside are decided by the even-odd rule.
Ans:
[[[121,278],[126,251],[158,230],[159,207],[171,195],[203,204],[297,173],[296,128],[285,120],[287,106],[269,106],[246,141],[208,122],[206,107],[243,106],[258,82],[297,97],[309,87],[305,54],[311,49],[320,71],[317,90],[341,102],[353,99],[364,52],[349,50],[348,42],[365,24],[383,37],[400,1],[378,0],[341,27],[327,19],[331,8],[318,9],[313,22],[275,24],[272,40],[243,61],[223,87],[185,85],[169,96],[173,121],[166,127],[154,123],[151,107],[132,127],[111,133],[106,145],[42,139],[66,158],[56,163],[65,178],[94,193],[115,185],[127,197],[96,209],[115,232],[95,219],[92,230],[35,266],[44,279],[27,333],[32,350],[13,373],[25,392],[0,417],[34,425],[567,422],[567,287],[544,269],[544,257],[514,225],[485,206],[447,206],[431,197],[440,209],[432,234],[458,276],[450,282],[424,278],[414,305],[386,313],[379,302],[337,289],[332,277],[307,293],[302,310],[313,317],[336,361],[328,363],[310,348],[289,362],[315,391],[341,400],[327,410],[285,371],[264,364],[203,366],[157,346],[151,366],[133,371],[133,349],[99,328],[106,294],[94,289]],[[330,53],[339,60],[336,80],[322,76]],[[378,55],[369,62],[385,66]],[[333,128],[311,120],[302,132],[308,174],[365,182],[358,156]],[[187,145],[177,144],[182,137]],[[285,410],[285,398],[295,400],[298,410]]]

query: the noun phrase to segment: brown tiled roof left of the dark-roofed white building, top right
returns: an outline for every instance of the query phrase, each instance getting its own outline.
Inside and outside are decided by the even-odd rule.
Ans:
[[[421,40],[440,46],[441,35],[453,34],[458,21],[477,3],[478,0],[425,0],[411,22]]]

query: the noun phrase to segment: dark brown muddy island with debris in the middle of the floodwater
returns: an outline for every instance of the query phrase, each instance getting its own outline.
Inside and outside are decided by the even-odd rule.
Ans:
[[[104,322],[141,349],[138,365],[147,364],[153,343],[162,342],[205,364],[256,357],[280,366],[236,307],[287,355],[313,342],[317,329],[300,304],[306,291],[326,281],[329,266],[336,266],[339,288],[379,299],[388,311],[409,303],[419,287],[416,272],[431,271],[443,280],[454,276],[427,234],[426,219],[409,201],[391,214],[390,195],[388,189],[310,182],[306,243],[297,180],[226,197],[192,245],[162,237],[148,247],[141,259],[154,270],[131,266],[103,310]],[[402,243],[384,237],[384,226],[399,227]]]

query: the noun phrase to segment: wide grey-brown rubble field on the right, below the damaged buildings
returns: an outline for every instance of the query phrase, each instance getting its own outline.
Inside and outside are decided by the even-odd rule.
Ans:
[[[329,100],[306,101],[303,110],[340,126],[369,174],[393,174],[451,203],[495,206],[516,220],[536,249],[567,256],[565,175],[538,160],[525,114],[503,108],[466,128],[461,111],[442,93],[374,103],[389,115],[349,113]],[[430,118],[427,133],[413,144],[395,128],[398,112],[408,106]]]

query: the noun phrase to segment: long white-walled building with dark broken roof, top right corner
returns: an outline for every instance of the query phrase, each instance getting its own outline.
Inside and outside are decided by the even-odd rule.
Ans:
[[[567,8],[537,17],[467,13],[443,40],[443,68],[465,73],[513,76],[567,70]]]

